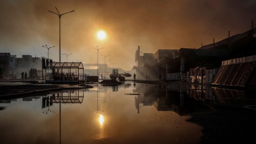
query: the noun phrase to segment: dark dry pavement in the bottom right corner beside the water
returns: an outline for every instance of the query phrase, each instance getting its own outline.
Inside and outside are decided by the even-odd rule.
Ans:
[[[256,111],[242,106],[207,104],[212,111],[192,113],[188,120],[204,127],[200,144],[251,144],[256,135]]]

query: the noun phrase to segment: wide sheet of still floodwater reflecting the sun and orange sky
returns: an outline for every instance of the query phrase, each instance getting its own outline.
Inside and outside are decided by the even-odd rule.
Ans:
[[[255,97],[132,82],[41,93],[0,103],[0,139],[1,144],[197,144],[204,127],[190,122],[190,114],[214,111],[206,106],[211,103],[243,107],[255,104]]]

